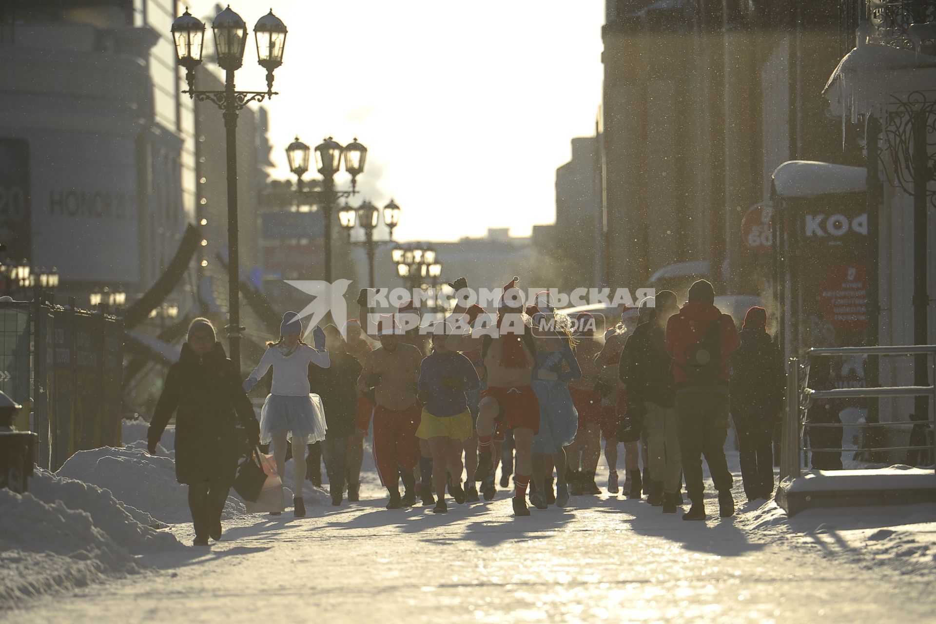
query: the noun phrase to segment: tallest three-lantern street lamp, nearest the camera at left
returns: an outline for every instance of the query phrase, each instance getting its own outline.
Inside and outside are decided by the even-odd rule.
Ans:
[[[262,102],[276,93],[273,91],[273,70],[283,64],[285,50],[285,24],[273,15],[272,10],[261,17],[254,27],[257,64],[267,70],[267,91],[237,91],[234,88],[234,72],[243,63],[243,52],[247,44],[247,24],[241,16],[227,7],[215,16],[212,22],[214,49],[218,65],[225,70],[223,91],[196,91],[195,68],[201,64],[204,49],[205,24],[186,9],[172,22],[172,40],[176,47],[179,65],[185,67],[188,90],[183,93],[199,102],[211,101],[222,110],[227,132],[227,290],[229,297],[229,323],[227,338],[230,341],[230,358],[238,370],[241,369],[241,300],[240,259],[238,254],[238,197],[237,197],[237,118],[251,102]]]

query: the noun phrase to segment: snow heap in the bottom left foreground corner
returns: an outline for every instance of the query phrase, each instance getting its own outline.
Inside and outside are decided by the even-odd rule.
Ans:
[[[91,515],[0,489],[0,604],[137,570]]]

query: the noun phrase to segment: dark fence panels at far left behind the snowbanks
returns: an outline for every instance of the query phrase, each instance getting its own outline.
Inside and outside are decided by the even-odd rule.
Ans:
[[[0,303],[0,390],[39,436],[37,465],[121,443],[123,319],[30,301]]]

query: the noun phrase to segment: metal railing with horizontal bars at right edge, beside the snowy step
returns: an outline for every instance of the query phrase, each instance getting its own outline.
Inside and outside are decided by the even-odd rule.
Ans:
[[[929,356],[929,362],[936,364],[936,345],[916,346],[881,346],[881,347],[838,347],[810,349],[806,352],[805,364],[800,364],[797,357],[791,357],[786,365],[786,401],[782,426],[782,455],[780,460],[781,478],[798,477],[804,466],[808,465],[809,453],[842,453],[848,451],[913,451],[929,450],[936,458],[936,441],[928,445],[885,446],[873,449],[861,448],[819,448],[805,443],[807,428],[844,428],[844,427],[908,427],[929,426],[933,421],[926,414],[923,420],[912,422],[889,423],[811,423],[809,410],[814,401],[825,399],[893,399],[903,397],[929,397],[936,405],[936,385],[899,385],[872,388],[834,388],[816,390],[809,387],[812,358],[822,356]],[[929,362],[927,368],[929,369]]]

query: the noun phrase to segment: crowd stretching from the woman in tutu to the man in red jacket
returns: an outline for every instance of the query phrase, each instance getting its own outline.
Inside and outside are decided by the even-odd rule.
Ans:
[[[456,293],[468,287],[464,278],[450,285]],[[708,282],[695,283],[681,309],[667,291],[645,299],[636,328],[622,321],[601,337],[587,312],[556,314],[547,291],[525,301],[516,277],[505,284],[492,323],[471,305],[420,327],[411,301],[373,322],[372,295],[361,291],[358,319],[344,336],[334,326],[315,327],[313,345],[301,339],[299,315],[286,312],[279,340],[268,343],[243,382],[250,392],[273,370],[259,430],[248,430],[256,443],[271,444],[280,474],[291,451],[296,484],[310,474],[315,480],[324,444],[332,503],[340,505],[345,490],[348,501],[358,501],[373,421],[388,509],[418,500],[446,513],[446,495],[459,504],[490,501],[499,465],[502,487],[513,473],[514,515],[530,515],[528,499],[538,509],[563,507],[572,495],[601,493],[595,472],[604,439],[608,493],[647,496],[676,513],[684,476],[693,506],[683,518],[702,519],[705,456],[721,515],[734,513],[724,442],[727,364],[738,333],[714,307]],[[161,432],[151,428],[151,447]],[[305,515],[301,487],[293,507]]]

